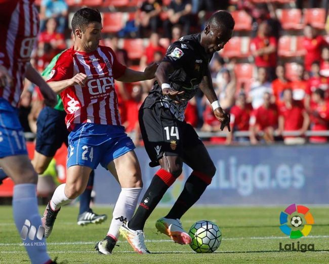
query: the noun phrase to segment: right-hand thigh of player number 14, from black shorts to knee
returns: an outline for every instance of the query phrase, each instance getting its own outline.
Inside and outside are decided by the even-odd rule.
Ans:
[[[193,170],[201,171],[213,177],[216,172],[214,162],[190,124],[185,124],[183,135],[183,161]]]

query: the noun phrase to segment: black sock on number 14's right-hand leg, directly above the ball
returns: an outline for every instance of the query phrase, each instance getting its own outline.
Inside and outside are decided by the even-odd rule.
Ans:
[[[211,177],[203,173],[193,171],[187,179],[181,195],[178,197],[173,208],[165,216],[171,219],[180,219],[182,215],[200,198],[207,186],[211,182]]]

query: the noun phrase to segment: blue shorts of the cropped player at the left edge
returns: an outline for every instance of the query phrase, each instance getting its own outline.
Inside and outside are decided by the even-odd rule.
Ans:
[[[17,108],[0,98],[0,158],[27,155],[24,131]]]

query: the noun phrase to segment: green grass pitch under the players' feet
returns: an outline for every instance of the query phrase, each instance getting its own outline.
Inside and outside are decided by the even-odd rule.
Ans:
[[[188,245],[179,245],[157,234],[154,227],[157,218],[165,215],[168,208],[157,208],[145,227],[146,245],[154,253],[138,255],[130,245],[120,239],[112,255],[99,255],[94,245],[101,240],[109,227],[110,219],[102,225],[79,227],[76,225],[78,209],[62,208],[49,239],[51,257],[60,263],[324,263],[329,259],[329,208],[311,207],[315,225],[308,237],[292,240],[285,238],[279,229],[279,213],[282,207],[194,207],[182,218],[186,230],[196,221],[208,219],[218,224],[222,231],[222,244],[215,253],[196,254]],[[43,212],[44,206],[40,207]],[[106,207],[94,208],[97,213],[111,214]],[[28,261],[19,234],[13,224],[10,206],[0,206],[0,263]],[[300,241],[314,244],[315,251],[283,252],[282,244]]]

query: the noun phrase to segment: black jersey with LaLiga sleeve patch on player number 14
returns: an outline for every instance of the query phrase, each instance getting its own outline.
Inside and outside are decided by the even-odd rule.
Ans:
[[[212,57],[213,55],[205,53],[201,46],[200,33],[183,36],[175,41],[169,46],[162,61],[171,62],[174,67],[174,72],[169,75],[169,84],[173,90],[185,92],[176,98],[176,101],[182,103],[176,104],[168,96],[162,95],[161,87],[155,81],[143,108],[150,108],[160,102],[162,106],[169,108],[177,119],[183,121],[187,101],[195,95],[203,76],[208,75]]]

